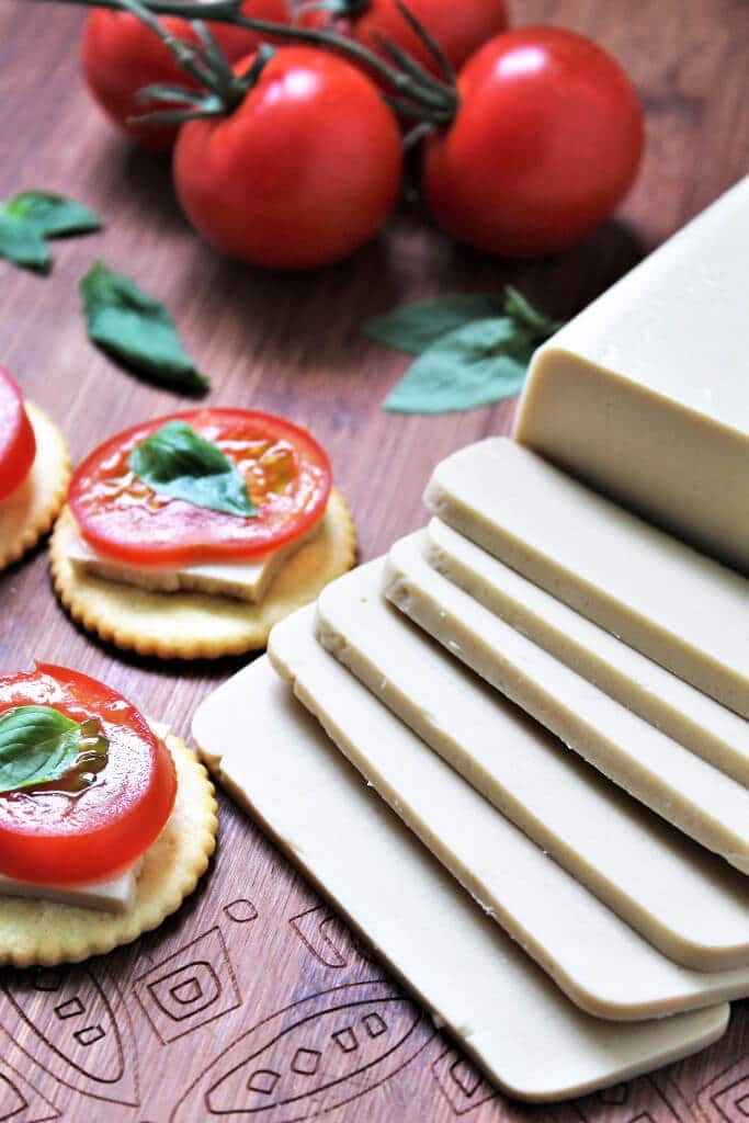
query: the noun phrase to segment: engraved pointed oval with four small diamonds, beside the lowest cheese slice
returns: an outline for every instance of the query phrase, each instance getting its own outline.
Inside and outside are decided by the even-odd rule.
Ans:
[[[291,1123],[377,1087],[435,1034],[391,984],[353,983],[294,1003],[255,1026],[205,1070],[173,1120]],[[182,1113],[184,1108],[184,1113]]]

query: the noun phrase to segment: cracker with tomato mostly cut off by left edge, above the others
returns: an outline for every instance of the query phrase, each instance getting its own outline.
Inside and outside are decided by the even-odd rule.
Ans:
[[[36,546],[54,522],[70,480],[60,429],[0,367],[0,569]]]

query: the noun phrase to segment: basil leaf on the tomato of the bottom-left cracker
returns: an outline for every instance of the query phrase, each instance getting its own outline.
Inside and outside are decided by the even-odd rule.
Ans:
[[[0,792],[61,779],[82,757],[106,757],[95,719],[73,721],[47,705],[19,705],[0,718]]]

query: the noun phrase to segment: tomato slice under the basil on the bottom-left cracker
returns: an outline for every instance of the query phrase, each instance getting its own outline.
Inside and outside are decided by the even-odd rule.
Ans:
[[[53,706],[98,719],[107,764],[85,787],[68,777],[0,794],[0,873],[25,882],[82,885],[115,877],[159,834],[176,795],[168,749],[117,691],[76,670],[37,664],[0,678],[0,715]]]

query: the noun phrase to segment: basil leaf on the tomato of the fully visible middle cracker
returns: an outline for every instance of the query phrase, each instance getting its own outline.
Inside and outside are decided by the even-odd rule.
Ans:
[[[257,508],[235,465],[185,421],[167,421],[133,449],[128,464],[155,492],[248,518]]]

